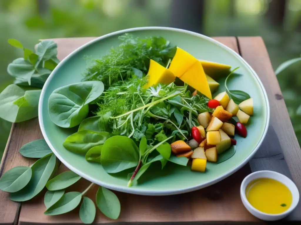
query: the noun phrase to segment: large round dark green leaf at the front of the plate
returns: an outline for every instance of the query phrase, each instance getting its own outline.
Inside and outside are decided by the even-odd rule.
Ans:
[[[126,136],[113,136],[101,149],[101,165],[107,173],[135,167],[139,161],[139,149],[135,142]]]

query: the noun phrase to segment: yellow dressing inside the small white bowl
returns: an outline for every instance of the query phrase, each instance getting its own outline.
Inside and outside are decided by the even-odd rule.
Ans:
[[[268,214],[283,213],[293,200],[288,187],[271,178],[251,181],[246,188],[246,197],[254,208]]]

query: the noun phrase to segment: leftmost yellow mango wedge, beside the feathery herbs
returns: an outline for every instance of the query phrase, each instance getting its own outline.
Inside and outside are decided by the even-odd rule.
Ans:
[[[144,85],[144,88],[149,88],[152,85],[162,83],[170,84],[174,82],[175,75],[164,66],[160,65],[156,61],[150,61],[150,67],[147,72],[148,82]]]

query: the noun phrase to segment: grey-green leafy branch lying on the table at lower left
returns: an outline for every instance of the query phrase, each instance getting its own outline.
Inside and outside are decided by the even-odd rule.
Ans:
[[[27,158],[38,158],[30,167],[18,166],[8,170],[0,178],[0,190],[9,192],[12,201],[28,201],[38,195],[44,187],[45,215],[59,215],[75,209],[79,204],[79,217],[83,223],[93,223],[96,207],[85,194],[95,186],[91,183],[83,192],[66,192],[66,188],[81,179],[73,171],[58,174],[60,161],[52,153],[44,139],[35,140],[22,146],[20,154]],[[117,196],[104,187],[98,187],[95,202],[99,210],[111,219],[120,214]]]

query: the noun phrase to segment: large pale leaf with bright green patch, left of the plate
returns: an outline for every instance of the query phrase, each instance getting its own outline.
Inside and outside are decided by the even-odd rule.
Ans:
[[[0,93],[0,117],[9,122],[22,122],[38,116],[41,89],[8,85]]]

